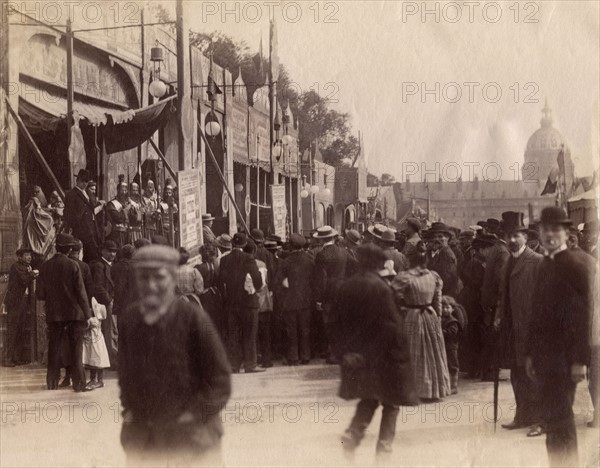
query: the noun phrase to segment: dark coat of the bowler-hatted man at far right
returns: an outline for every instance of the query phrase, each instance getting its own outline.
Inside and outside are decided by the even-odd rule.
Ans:
[[[570,378],[572,364],[588,363],[594,270],[590,256],[568,249],[540,264],[526,342],[536,372]]]

